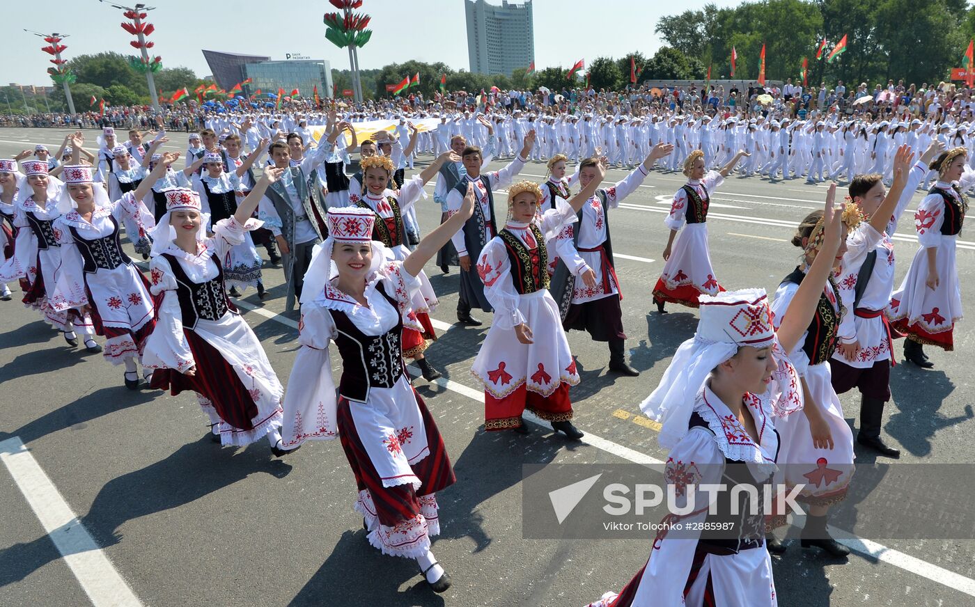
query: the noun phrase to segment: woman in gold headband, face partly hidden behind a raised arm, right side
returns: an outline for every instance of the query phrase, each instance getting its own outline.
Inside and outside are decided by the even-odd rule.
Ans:
[[[900,195],[900,186],[895,186],[895,198]],[[836,184],[831,184],[829,196],[836,193]],[[860,210],[850,205],[841,212],[843,228],[842,243],[836,249],[832,266],[837,267],[846,252],[846,235],[855,229],[863,218]],[[786,277],[775,291],[772,313],[779,324],[789,319],[793,313],[792,302],[799,287],[806,280],[806,273],[815,259],[823,254],[825,218],[822,211],[813,211],[799,226],[793,245],[803,250],[802,261],[796,270]],[[849,554],[849,549],[830,537],[826,530],[827,514],[830,506],[846,498],[853,465],[853,433],[843,418],[842,405],[833,390],[830,379],[830,358],[836,351],[837,331],[840,319],[847,313],[839,298],[832,274],[826,287],[819,294],[819,303],[811,322],[796,346],[789,350],[789,360],[796,365],[800,376],[804,404],[801,414],[790,414],[776,422],[781,446],[779,448],[778,475],[787,487],[804,485],[798,500],[809,506],[805,527],[802,530],[803,548],[818,547],[835,557]],[[785,524],[786,512],[775,512],[769,523],[770,528]],[[770,539],[769,550],[776,553],[785,551],[785,546]]]

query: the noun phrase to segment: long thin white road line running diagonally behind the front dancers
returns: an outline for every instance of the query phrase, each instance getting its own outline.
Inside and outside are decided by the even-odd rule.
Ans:
[[[274,314],[273,312],[268,312],[267,310],[263,310],[261,308],[257,308],[247,302],[239,301],[237,303],[244,309],[254,311],[256,314],[264,318],[271,319],[275,322],[281,322],[282,324],[297,329],[297,322],[294,322],[291,319]],[[415,366],[409,365],[408,368],[409,371],[414,375],[420,374],[419,369]],[[450,392],[458,394],[462,397],[471,398],[472,400],[476,400],[482,404],[484,403],[484,392],[464,386],[463,384],[449,380],[445,377],[441,377],[430,383],[436,384],[437,386],[440,386],[441,388],[449,390]],[[550,428],[548,422],[543,421],[530,411],[525,411],[523,417],[527,421],[543,429],[547,430]],[[641,464],[659,473],[663,473],[664,471],[664,463],[660,460],[637,451],[636,449],[631,449],[630,447],[613,442],[612,440],[602,436],[597,436],[590,432],[586,432],[585,436],[582,437],[580,442],[594,446],[597,449],[601,449],[606,453],[610,453],[621,459],[633,462],[634,464]],[[953,571],[949,571],[935,564],[911,556],[910,554],[905,554],[899,550],[888,549],[877,542],[859,538],[839,540],[839,543],[868,558],[876,558],[881,562],[914,573],[922,578],[926,578],[932,582],[941,584],[942,586],[956,588],[960,592],[975,596],[975,580],[966,578]]]

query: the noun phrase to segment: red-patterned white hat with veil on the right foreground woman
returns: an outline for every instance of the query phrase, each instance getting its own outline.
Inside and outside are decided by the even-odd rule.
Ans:
[[[772,384],[763,395],[755,396],[782,417],[802,407],[801,393],[793,387],[800,385],[799,375],[775,337],[765,290],[724,291],[714,296],[701,295],[699,301],[701,320],[697,332],[681,344],[656,390],[640,404],[647,417],[662,424],[659,439],[665,449],[674,448],[687,434],[697,393],[712,370],[742,347],[772,348],[778,361]]]

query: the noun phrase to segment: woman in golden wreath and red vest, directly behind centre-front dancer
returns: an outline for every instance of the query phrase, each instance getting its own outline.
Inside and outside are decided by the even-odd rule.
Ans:
[[[453,152],[444,152],[430,163],[429,167],[410,178],[396,192],[388,187],[394,171],[393,163],[388,156],[371,156],[360,163],[366,191],[353,207],[369,209],[375,213],[372,240],[379,241],[389,248],[397,261],[403,261],[409,255],[404,214],[413,208],[420,196],[426,198],[423,185],[440,171],[444,163],[456,162],[457,159],[457,155]],[[433,381],[440,377],[441,373],[430,366],[423,352],[427,348],[428,340],[437,339],[433,323],[430,322],[430,313],[437,309],[437,294],[422,270],[416,275],[416,280],[419,289],[410,303],[413,314],[408,319],[409,326],[403,327],[403,356],[416,361],[416,365],[423,373],[423,379]]]

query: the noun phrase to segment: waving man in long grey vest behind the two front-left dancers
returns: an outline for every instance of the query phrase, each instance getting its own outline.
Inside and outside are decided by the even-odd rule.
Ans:
[[[292,156],[287,143],[275,141],[270,148],[275,168],[288,171],[267,188],[257,206],[257,217],[271,230],[281,249],[288,282],[287,311],[294,308],[294,302],[301,296],[312,249],[328,236],[327,210],[308,188],[308,176],[325,161],[331,150],[331,145],[323,145],[326,141],[323,136],[297,167],[291,167]]]

